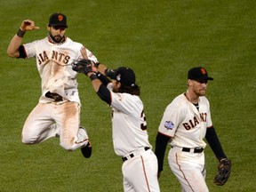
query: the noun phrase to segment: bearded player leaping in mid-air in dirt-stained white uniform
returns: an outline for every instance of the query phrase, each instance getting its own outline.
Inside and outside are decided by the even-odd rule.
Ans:
[[[46,37],[21,44],[27,31],[39,29],[33,20],[23,20],[8,46],[7,53],[13,58],[36,58],[36,67],[42,79],[42,95],[23,126],[22,142],[36,144],[60,137],[62,148],[81,148],[84,157],[90,157],[92,146],[86,130],[80,127],[77,73],[71,67],[74,60],[82,59],[81,49],[84,45],[68,38],[65,35],[67,28],[66,15],[53,13]],[[86,52],[90,60],[98,62],[92,52]]]

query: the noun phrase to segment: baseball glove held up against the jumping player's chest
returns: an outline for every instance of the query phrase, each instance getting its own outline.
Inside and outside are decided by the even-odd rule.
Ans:
[[[72,69],[78,73],[84,73],[87,75],[89,72],[92,72],[92,60],[78,60],[72,63]]]

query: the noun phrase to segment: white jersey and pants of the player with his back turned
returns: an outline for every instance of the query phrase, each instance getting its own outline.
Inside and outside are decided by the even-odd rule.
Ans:
[[[112,92],[112,84],[108,89],[114,149],[117,156],[128,158],[122,166],[124,191],[159,192],[157,158],[148,142],[143,103],[139,96]]]

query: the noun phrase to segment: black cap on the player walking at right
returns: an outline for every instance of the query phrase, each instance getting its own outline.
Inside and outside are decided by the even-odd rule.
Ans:
[[[196,81],[213,80],[212,77],[208,76],[206,69],[202,68],[202,67],[196,67],[196,68],[189,69],[188,79],[196,80]]]

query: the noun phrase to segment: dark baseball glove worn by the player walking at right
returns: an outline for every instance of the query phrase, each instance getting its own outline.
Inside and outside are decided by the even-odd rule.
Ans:
[[[220,160],[218,166],[218,171],[214,177],[214,184],[218,186],[223,186],[231,173],[231,160],[224,158]]]

